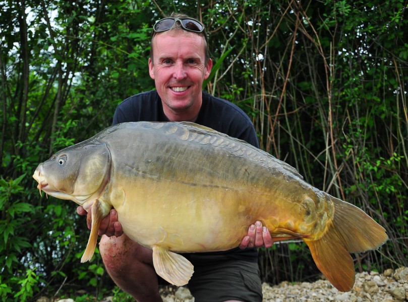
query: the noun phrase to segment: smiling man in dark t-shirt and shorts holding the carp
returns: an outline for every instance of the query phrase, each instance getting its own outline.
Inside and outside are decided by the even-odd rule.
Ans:
[[[191,121],[259,146],[245,113],[231,103],[202,91],[212,60],[204,26],[185,15],[172,15],[153,27],[149,58],[156,91],[130,97],[114,113],[113,124],[130,121]],[[85,215],[82,207],[78,213]],[[87,221],[90,226],[90,212]],[[118,215],[111,210],[102,221],[99,250],[113,281],[138,301],[162,301],[152,251],[123,234]],[[257,221],[250,226],[241,249],[186,254],[194,265],[188,286],[196,302],[261,301],[262,288],[254,247],[270,247],[271,236]]]

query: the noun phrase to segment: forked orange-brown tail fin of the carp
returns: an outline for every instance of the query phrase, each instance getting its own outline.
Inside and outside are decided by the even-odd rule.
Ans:
[[[305,239],[319,270],[340,291],[349,291],[355,280],[349,253],[373,250],[388,239],[385,229],[360,208],[330,196],[334,216],[318,240]]]

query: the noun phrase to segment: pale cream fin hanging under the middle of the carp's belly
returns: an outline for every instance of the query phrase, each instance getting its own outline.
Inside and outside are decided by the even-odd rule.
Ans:
[[[185,257],[159,246],[153,246],[153,265],[160,277],[177,286],[186,285],[194,272]]]

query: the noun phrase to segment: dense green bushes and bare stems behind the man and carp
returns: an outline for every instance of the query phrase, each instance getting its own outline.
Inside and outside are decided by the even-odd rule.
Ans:
[[[262,148],[387,230],[386,245],[355,255],[356,269],[408,266],[406,1],[1,0],[0,6],[3,301],[79,289],[100,297],[113,288],[99,255],[80,264],[89,231],[75,204],[40,197],[31,175],[56,150],[109,126],[122,100],[154,88],[151,26],[172,11],[207,25],[216,64],[205,89],[248,113]],[[298,242],[261,251],[260,264],[272,283],[319,276]]]

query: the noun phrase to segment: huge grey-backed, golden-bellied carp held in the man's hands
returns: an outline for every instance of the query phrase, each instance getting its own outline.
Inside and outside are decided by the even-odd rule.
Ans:
[[[376,249],[385,230],[358,207],[305,182],[288,164],[193,123],[122,123],[57,152],[34,172],[45,193],[92,206],[81,259],[90,260],[101,219],[113,207],[123,231],[153,250],[158,275],[186,284],[178,252],[237,247],[256,220],[274,241],[301,238],[341,291],[355,280],[349,253]]]

